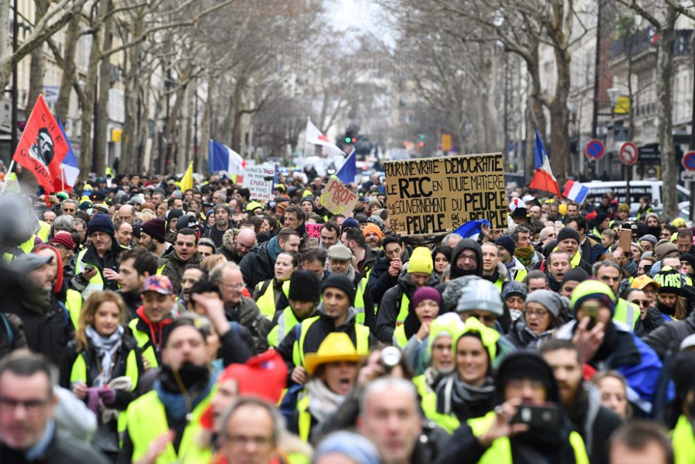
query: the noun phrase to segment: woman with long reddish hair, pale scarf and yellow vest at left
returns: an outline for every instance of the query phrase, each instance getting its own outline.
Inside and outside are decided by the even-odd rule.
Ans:
[[[129,310],[114,291],[95,291],[85,301],[72,342],[60,363],[60,386],[97,415],[92,444],[116,461],[120,413],[136,398],[145,371],[138,344],[128,333]]]

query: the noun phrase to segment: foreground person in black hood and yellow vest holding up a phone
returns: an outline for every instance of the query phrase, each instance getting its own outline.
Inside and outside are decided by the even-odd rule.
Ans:
[[[589,462],[581,436],[559,407],[553,371],[537,353],[520,351],[502,361],[495,376],[494,401],[498,406],[493,411],[455,431],[436,464],[459,463],[461,456],[471,463]],[[557,420],[533,427],[514,423],[522,404],[553,408]]]

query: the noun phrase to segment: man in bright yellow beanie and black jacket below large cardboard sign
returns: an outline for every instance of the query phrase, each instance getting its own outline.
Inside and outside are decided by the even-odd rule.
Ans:
[[[479,248],[480,249],[480,248]],[[398,285],[389,289],[382,298],[377,311],[376,335],[379,342],[393,343],[395,328],[405,325],[405,342],[418,331],[420,322],[412,306],[413,295],[420,287],[434,287],[439,283],[432,273],[434,263],[432,254],[427,248],[420,246],[413,250],[408,262],[408,269],[400,273]]]

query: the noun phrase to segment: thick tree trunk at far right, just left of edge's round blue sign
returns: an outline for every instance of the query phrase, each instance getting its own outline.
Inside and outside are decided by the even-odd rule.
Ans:
[[[664,217],[675,218],[678,216],[678,197],[676,196],[676,184],[678,173],[676,170],[676,150],[673,146],[671,127],[673,92],[671,78],[673,77],[673,43],[676,33],[676,10],[666,7],[666,15],[662,28],[659,31],[659,57],[657,58],[657,118],[659,120],[659,142],[661,143],[661,179],[664,185],[662,189],[662,202],[664,204]]]

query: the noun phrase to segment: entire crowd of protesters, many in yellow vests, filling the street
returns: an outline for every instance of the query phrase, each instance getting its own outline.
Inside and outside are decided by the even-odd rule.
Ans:
[[[695,462],[695,227],[510,189],[401,237],[327,180],[2,195],[0,462]]]

